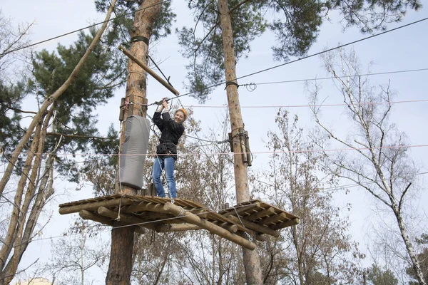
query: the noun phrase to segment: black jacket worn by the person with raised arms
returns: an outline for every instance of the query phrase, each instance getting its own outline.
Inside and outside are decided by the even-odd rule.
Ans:
[[[162,114],[161,112],[155,112],[155,115],[153,115],[153,123],[155,123],[162,132],[156,153],[163,155],[163,157],[174,157],[176,160],[178,140],[184,133],[183,123],[175,123],[175,120],[170,118],[170,114],[168,112]]]

